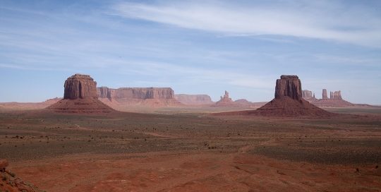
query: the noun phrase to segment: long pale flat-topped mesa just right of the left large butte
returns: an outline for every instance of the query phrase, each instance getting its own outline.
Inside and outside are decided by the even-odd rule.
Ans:
[[[140,104],[152,107],[181,106],[175,100],[174,90],[171,88],[97,88],[99,98],[107,98],[114,104]],[[102,102],[105,102],[102,100]]]

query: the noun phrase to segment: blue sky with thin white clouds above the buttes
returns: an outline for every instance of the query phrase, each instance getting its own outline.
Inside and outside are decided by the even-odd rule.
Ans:
[[[109,88],[274,98],[281,75],[322,98],[381,104],[381,1],[0,0],[0,102]]]

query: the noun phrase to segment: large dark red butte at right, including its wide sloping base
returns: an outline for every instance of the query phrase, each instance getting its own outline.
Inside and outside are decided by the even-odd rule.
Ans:
[[[257,110],[224,112],[213,115],[260,115],[260,116],[332,116],[334,114],[315,107],[302,98],[301,80],[298,76],[277,79],[274,99]]]

